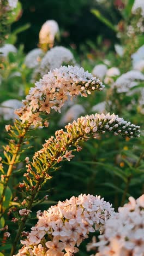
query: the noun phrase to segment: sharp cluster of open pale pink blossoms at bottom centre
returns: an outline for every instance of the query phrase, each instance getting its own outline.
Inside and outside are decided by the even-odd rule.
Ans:
[[[17,256],[73,255],[89,232],[104,230],[110,216],[115,214],[109,202],[100,196],[80,195],[59,201],[47,211],[37,212],[38,222],[32,228]]]

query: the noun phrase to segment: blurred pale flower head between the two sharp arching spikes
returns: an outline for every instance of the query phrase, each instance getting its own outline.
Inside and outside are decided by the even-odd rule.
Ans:
[[[83,113],[85,113],[85,108],[83,108],[80,104],[75,104],[63,114],[63,117],[59,121],[59,125],[64,126],[65,124],[70,123],[71,121],[74,121],[80,117],[80,115]]]

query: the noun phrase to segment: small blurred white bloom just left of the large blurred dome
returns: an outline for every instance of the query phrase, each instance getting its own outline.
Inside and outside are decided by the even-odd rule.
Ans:
[[[32,51],[29,51],[25,59],[25,65],[29,68],[37,67],[43,55],[43,51],[39,48],[35,48]]]

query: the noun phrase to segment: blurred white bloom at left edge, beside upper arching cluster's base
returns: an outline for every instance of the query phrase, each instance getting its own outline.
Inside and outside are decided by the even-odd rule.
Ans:
[[[3,101],[0,105],[0,115],[3,117],[4,120],[18,118],[17,115],[14,114],[14,111],[21,106],[22,103],[18,100]]]

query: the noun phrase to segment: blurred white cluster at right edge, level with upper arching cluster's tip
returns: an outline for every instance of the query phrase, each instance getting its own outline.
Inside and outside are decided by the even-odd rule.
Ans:
[[[131,88],[137,85],[137,82],[144,81],[144,75],[137,70],[131,70],[119,77],[113,87],[117,89],[118,93],[128,92]]]

